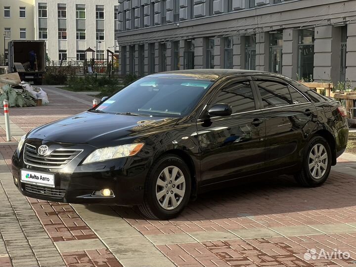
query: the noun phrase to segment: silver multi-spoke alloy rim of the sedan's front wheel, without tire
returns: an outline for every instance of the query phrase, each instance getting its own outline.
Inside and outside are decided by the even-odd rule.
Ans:
[[[176,166],[165,168],[156,182],[156,198],[165,210],[173,210],[179,206],[185,193],[185,178]]]

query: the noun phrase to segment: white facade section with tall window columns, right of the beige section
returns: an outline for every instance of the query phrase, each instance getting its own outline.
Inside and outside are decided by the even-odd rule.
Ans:
[[[34,0],[35,40],[45,40],[50,60],[84,60],[116,50],[114,11],[117,0]],[[91,55],[90,55],[91,57]]]

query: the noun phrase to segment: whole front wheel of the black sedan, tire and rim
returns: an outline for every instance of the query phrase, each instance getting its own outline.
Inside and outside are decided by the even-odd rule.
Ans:
[[[190,191],[188,166],[176,155],[165,155],[152,166],[145,181],[144,200],[138,209],[149,219],[173,219],[188,203]]]

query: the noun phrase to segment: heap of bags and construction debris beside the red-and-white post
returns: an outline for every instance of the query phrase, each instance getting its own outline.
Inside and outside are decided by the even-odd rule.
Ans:
[[[31,107],[47,105],[47,93],[39,87],[21,82],[18,73],[0,75],[0,107],[2,100],[8,100],[9,107]]]

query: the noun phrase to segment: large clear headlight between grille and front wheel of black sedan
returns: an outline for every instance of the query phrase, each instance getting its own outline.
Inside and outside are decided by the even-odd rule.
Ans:
[[[112,147],[96,149],[83,162],[83,164],[118,159],[123,157],[134,156],[143,147],[144,143],[126,144]]]

